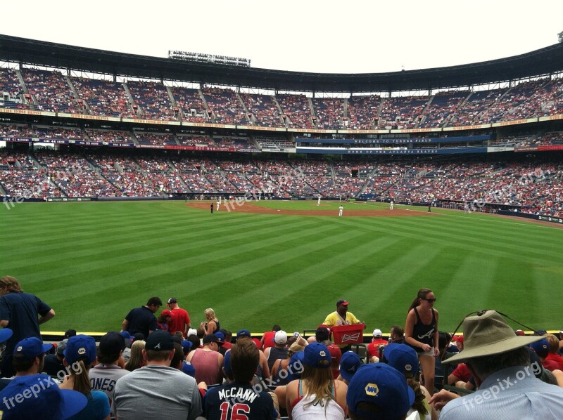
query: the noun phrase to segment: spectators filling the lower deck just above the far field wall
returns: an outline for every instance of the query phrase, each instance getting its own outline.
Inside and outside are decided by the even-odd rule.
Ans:
[[[548,138],[561,139],[560,133]],[[8,158],[10,161],[8,162]],[[357,172],[357,174],[356,174]],[[395,202],[481,200],[533,214],[563,216],[563,165],[545,162],[330,162],[326,159],[131,157],[37,150],[7,152],[0,186],[32,197],[246,193],[279,197],[359,197]]]

